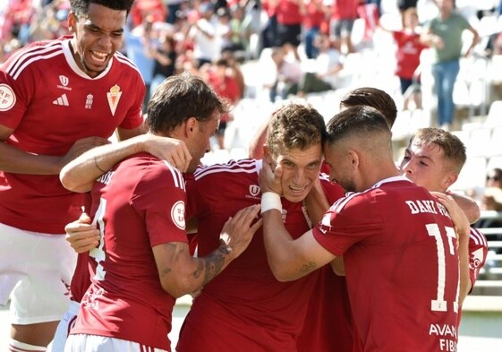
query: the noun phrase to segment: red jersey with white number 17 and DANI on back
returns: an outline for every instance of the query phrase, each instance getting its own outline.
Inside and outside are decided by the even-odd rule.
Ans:
[[[353,193],[328,210],[315,238],[344,255],[364,351],[453,351],[459,267],[447,210],[402,176]]]

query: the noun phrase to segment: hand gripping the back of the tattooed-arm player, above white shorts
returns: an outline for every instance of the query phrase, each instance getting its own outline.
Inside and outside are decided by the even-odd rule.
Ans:
[[[96,224],[91,224],[89,215],[82,213],[81,218],[64,227],[66,241],[72,245],[76,253],[88,252],[98,247],[101,238]]]

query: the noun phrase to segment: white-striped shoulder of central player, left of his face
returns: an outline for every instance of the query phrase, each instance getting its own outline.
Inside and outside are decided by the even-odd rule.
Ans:
[[[255,159],[229,160],[225,164],[213,164],[198,167],[193,173],[193,178],[199,181],[210,176],[232,176],[257,174],[261,167],[261,161]]]

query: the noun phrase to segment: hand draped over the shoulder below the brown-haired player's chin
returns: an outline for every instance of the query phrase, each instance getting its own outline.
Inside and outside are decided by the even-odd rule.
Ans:
[[[181,172],[186,172],[190,165],[190,151],[188,151],[186,144],[180,140],[146,133],[143,150],[158,159],[166,160]]]

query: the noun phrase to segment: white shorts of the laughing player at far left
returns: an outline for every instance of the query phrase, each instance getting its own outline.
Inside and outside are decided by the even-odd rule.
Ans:
[[[11,297],[11,322],[59,321],[70,304],[76,261],[64,235],[0,224],[0,305]]]

